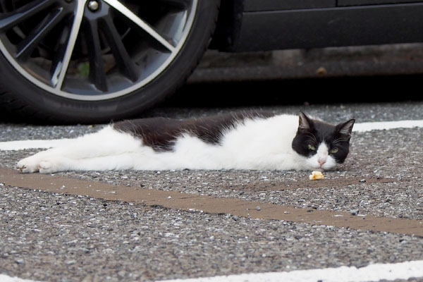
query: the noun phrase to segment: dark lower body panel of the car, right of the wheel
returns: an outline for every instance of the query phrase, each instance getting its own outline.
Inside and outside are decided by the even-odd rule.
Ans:
[[[212,48],[264,51],[422,42],[423,1],[223,1]]]

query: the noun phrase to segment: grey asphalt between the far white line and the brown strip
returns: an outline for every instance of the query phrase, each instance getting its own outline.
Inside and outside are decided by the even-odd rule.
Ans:
[[[378,142],[373,142],[378,140]],[[115,185],[175,190],[216,197],[235,197],[295,207],[423,219],[423,129],[354,133],[350,156],[337,171],[339,180],[326,187],[306,187],[309,172],[295,171],[88,171],[56,173]],[[364,149],[362,149],[364,148]],[[0,152],[2,164],[13,168],[38,150]],[[360,183],[356,178],[390,180]],[[342,182],[353,179],[342,185]]]

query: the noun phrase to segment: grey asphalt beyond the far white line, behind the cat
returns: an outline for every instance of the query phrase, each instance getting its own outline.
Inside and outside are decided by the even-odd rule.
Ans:
[[[357,123],[367,121],[398,121],[423,119],[423,102],[369,103],[369,104],[312,104],[308,106],[243,106],[194,107],[162,106],[146,111],[140,118],[164,116],[168,118],[196,118],[230,111],[263,109],[276,114],[298,114],[299,111],[322,118],[329,123],[340,123],[356,118]],[[1,120],[0,120],[1,122]],[[92,133],[104,125],[29,125],[0,123],[0,142],[11,140],[73,138]]]

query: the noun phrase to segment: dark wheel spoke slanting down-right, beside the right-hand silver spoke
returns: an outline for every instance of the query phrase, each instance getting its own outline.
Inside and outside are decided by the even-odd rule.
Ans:
[[[125,45],[123,45],[121,35],[118,30],[116,30],[113,20],[111,20],[111,18],[105,18],[101,23],[104,24],[104,34],[106,35],[107,42],[109,43],[121,73],[130,80],[136,81],[139,76],[137,66],[135,66],[135,63],[130,58],[128,51],[125,48]]]

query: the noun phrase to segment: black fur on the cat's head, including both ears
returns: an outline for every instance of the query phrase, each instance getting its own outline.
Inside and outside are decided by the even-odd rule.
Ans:
[[[309,149],[309,145],[317,149],[321,142],[325,142],[329,152],[333,148],[338,149],[338,152],[329,154],[333,156],[338,164],[342,164],[350,151],[350,137],[354,122],[355,119],[351,119],[346,123],[331,125],[311,119],[304,113],[300,113],[298,131],[293,139],[292,147],[298,154],[311,157],[316,154],[316,150]]]

